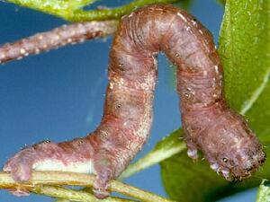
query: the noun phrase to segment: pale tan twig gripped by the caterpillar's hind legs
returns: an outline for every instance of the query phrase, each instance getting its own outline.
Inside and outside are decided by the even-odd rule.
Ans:
[[[14,181],[10,174],[0,172],[0,189],[27,189],[39,190],[40,185],[71,185],[81,187],[92,187],[94,184],[94,175],[61,172],[61,171],[33,171],[30,181],[18,183]],[[115,191],[131,198],[138,198],[145,202],[172,202],[169,199],[161,198],[148,191],[144,191],[135,187],[131,187],[117,180],[111,180],[109,183],[110,191]],[[69,190],[68,190],[69,191]],[[58,193],[53,193],[57,195]],[[55,196],[59,197],[59,196]]]

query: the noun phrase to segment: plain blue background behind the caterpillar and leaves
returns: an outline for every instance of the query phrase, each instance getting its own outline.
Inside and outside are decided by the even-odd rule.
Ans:
[[[96,4],[116,6],[127,2],[107,0]],[[198,0],[193,1],[190,12],[213,33],[217,42],[223,6],[214,0]],[[48,14],[4,2],[0,2],[0,19],[0,44],[65,23]],[[85,136],[98,126],[103,112],[111,42],[112,38],[87,41],[0,66],[0,165],[25,144],[47,138],[65,141]],[[159,56],[158,65],[152,136],[139,156],[148,153],[158,140],[180,127],[173,73],[163,55]],[[125,181],[166,196],[158,165]],[[253,189],[239,194],[238,198],[222,201],[255,201],[255,195]],[[0,201],[49,202],[51,199],[34,195],[15,198],[1,190]]]

